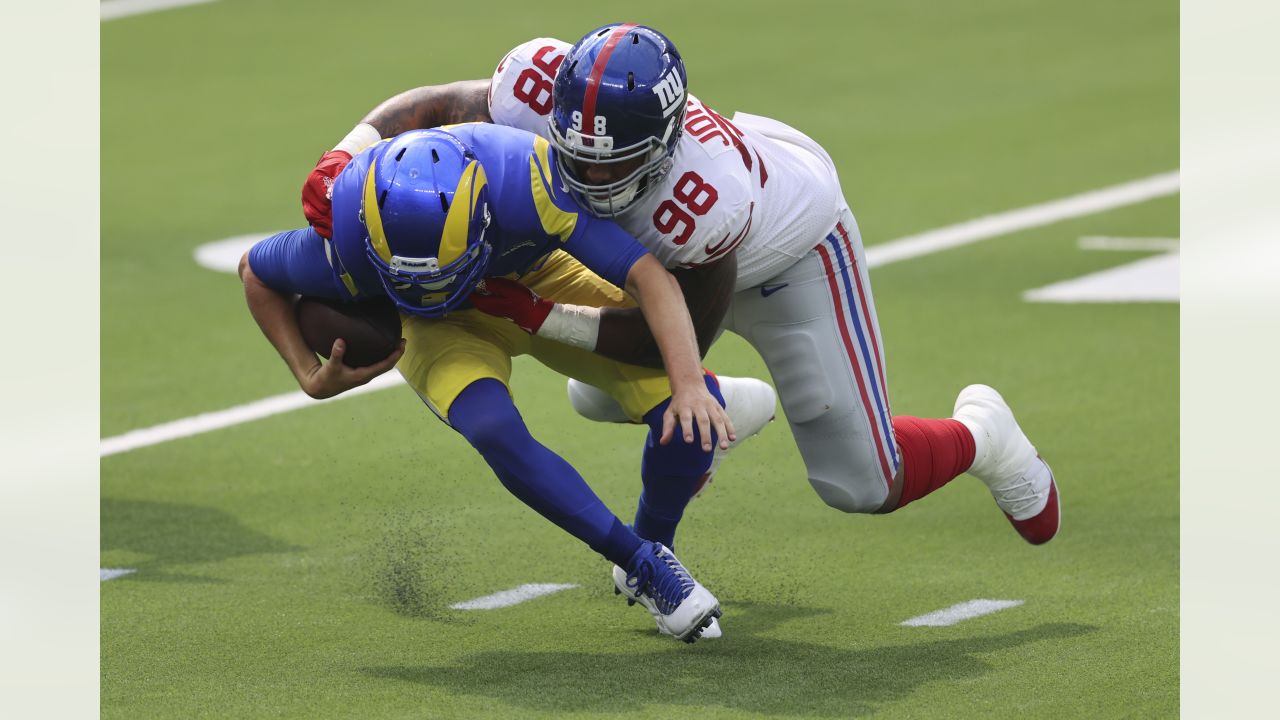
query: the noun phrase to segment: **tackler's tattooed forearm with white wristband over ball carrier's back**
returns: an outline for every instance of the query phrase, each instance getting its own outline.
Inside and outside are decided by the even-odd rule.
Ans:
[[[384,100],[365,119],[383,137],[452,123],[492,122],[489,81],[465,79],[415,87]]]

